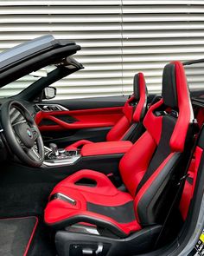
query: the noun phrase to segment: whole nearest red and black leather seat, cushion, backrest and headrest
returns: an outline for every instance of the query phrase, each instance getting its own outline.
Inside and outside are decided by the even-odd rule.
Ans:
[[[45,222],[57,229],[83,222],[120,238],[162,223],[171,203],[169,180],[177,174],[176,167],[181,169],[178,165],[193,119],[182,63],[171,62],[163,70],[163,98],[144,118],[145,133],[119,163],[127,192],[115,187],[105,174],[81,170],[54,187]],[[81,183],[85,179],[86,185]]]

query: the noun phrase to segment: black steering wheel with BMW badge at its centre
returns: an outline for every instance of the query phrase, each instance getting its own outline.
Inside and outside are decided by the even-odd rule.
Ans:
[[[16,108],[23,121],[11,122],[11,109]],[[1,108],[3,134],[11,151],[26,165],[40,167],[44,160],[44,144],[33,117],[22,103],[11,100]]]

